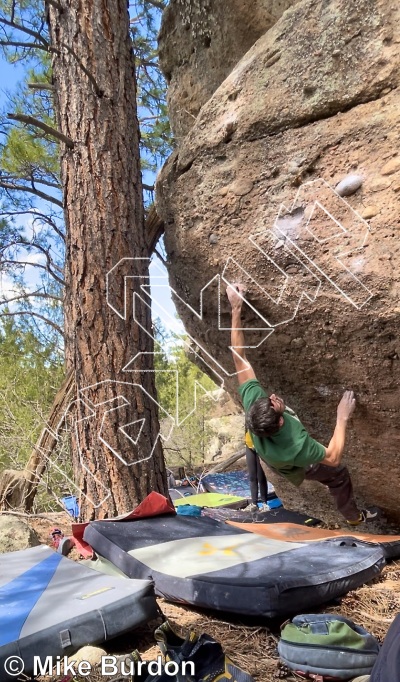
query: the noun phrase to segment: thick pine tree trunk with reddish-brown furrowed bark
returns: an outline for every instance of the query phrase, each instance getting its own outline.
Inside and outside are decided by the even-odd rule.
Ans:
[[[133,291],[148,277],[135,65],[126,1],[62,5],[62,12],[49,6],[48,22],[58,127],[73,141],[72,148],[61,144],[61,179],[66,360],[77,385],[74,472],[82,517],[104,518],[151,490],[167,491],[149,371],[151,315],[137,304],[134,320],[131,294],[121,319],[106,297],[107,272],[122,258],[143,259],[129,262]],[[122,274],[111,287],[123,311]],[[137,371],[123,371],[137,354]]]

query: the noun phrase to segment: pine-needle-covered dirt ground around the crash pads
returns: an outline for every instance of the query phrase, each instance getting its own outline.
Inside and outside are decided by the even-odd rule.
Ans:
[[[66,535],[71,533],[70,520],[64,513],[30,519],[29,523],[41,542],[46,544],[51,544],[50,531],[53,527],[60,528]],[[69,556],[74,560],[79,560],[76,550],[73,550]],[[179,634],[185,636],[189,630],[195,630],[199,634],[208,633],[221,642],[225,652],[239,666],[248,671],[256,682],[273,682],[277,679],[294,682],[300,679],[282,667],[279,662],[276,647],[281,622],[255,621],[232,614],[171,604],[164,599],[159,599],[158,603],[164,616],[169,619]],[[383,641],[389,625],[395,615],[400,612],[400,561],[387,565],[378,578],[350,592],[340,600],[340,603],[315,610],[347,616],[367,628],[379,641]],[[101,646],[107,653],[115,655],[130,653],[138,649],[144,660],[154,660],[160,653],[153,638],[156,625],[157,623],[151,623],[143,626]],[[50,680],[61,682],[59,677],[40,679],[41,682],[50,682]],[[74,678],[74,682],[83,682],[83,680],[104,682],[106,679],[112,678],[101,677],[93,673],[89,677]],[[129,678],[119,677],[118,679],[128,680]],[[67,682],[67,678],[64,682]]]

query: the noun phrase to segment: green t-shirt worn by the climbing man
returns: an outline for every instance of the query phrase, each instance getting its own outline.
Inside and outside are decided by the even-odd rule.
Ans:
[[[267,398],[267,394],[257,379],[249,379],[239,386],[245,412],[259,398]],[[304,480],[305,468],[310,464],[321,462],[325,457],[325,448],[311,438],[299,419],[283,413],[283,426],[273,436],[259,438],[253,433],[251,437],[257,454],[268,466],[276,469],[294,485]]]

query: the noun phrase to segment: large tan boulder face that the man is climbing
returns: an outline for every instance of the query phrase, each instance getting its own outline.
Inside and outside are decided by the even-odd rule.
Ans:
[[[399,62],[397,2],[296,3],[203,104],[157,183],[171,286],[209,373],[234,394],[218,276],[241,280],[258,378],[325,444],[342,391],[356,391],[345,462],[360,503],[397,520]],[[342,199],[332,188],[349,174],[362,184]],[[199,309],[206,286],[200,321],[185,304]],[[322,500],[313,492],[310,511]]]

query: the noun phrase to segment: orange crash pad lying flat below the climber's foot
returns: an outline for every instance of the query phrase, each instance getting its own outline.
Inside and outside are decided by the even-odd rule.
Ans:
[[[320,542],[321,540],[349,539],[357,542],[379,545],[382,547],[386,559],[400,558],[400,535],[373,535],[372,533],[360,533],[345,530],[325,530],[324,528],[308,528],[294,523],[238,523],[233,520],[227,521],[229,525],[244,528],[251,533],[257,533],[266,538],[284,540],[286,542]]]

